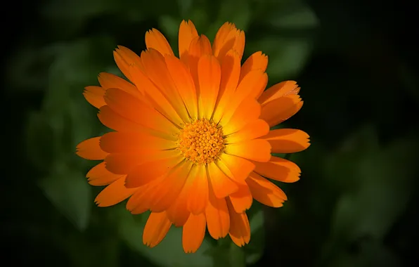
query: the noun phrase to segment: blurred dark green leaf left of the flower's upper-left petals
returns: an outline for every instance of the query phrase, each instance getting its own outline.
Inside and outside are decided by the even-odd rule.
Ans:
[[[53,129],[58,148],[55,153],[67,164],[67,160],[75,159],[77,143],[103,129],[82,92],[85,86],[98,84],[99,72],[115,70],[108,67],[108,62],[112,63],[112,44],[110,38],[92,37],[56,48],[42,108]],[[109,60],[103,60],[103,53],[109,53]]]

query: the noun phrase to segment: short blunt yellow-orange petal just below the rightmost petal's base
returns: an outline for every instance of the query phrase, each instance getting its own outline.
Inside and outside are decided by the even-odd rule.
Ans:
[[[268,162],[271,159],[271,145],[266,140],[253,139],[226,145],[226,153],[257,162]]]

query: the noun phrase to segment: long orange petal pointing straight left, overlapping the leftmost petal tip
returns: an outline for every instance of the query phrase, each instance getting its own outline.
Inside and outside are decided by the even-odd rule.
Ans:
[[[151,136],[143,131],[111,131],[101,137],[101,148],[105,152],[136,152],[141,150],[169,150],[176,142]]]

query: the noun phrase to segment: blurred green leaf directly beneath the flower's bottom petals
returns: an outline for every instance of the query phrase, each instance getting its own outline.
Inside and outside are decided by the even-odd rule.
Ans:
[[[141,253],[153,263],[164,267],[213,266],[212,258],[205,254],[205,251],[209,249],[209,243],[206,240],[202,242],[197,252],[186,254],[182,249],[182,228],[172,226],[165,239],[156,247],[150,248],[143,245],[145,225],[146,220],[134,221],[133,216],[130,216],[127,211],[127,216],[124,216],[120,224],[120,235],[122,240],[127,242],[132,249]]]

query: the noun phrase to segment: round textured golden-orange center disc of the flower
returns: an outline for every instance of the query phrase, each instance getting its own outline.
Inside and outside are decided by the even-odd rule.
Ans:
[[[179,133],[179,150],[195,164],[205,164],[217,159],[224,151],[223,131],[208,119],[198,119],[186,124]]]

